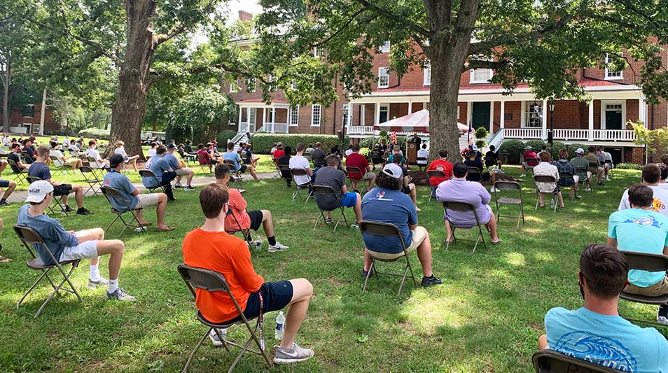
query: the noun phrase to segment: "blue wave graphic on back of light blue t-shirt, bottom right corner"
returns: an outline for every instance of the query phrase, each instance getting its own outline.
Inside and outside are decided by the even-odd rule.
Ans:
[[[638,369],[638,362],[623,344],[589,332],[578,331],[562,335],[557,341],[555,351],[622,372],[633,373]]]

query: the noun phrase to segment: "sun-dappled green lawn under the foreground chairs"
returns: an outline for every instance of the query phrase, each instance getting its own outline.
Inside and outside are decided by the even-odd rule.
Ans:
[[[510,175],[516,167],[506,167]],[[291,246],[285,253],[266,252],[253,257],[258,274],[267,281],[305,277],[314,284],[315,296],[297,342],[315,350],[315,357],[293,367],[294,372],[532,372],[531,354],[543,334],[543,317],[552,307],[580,307],[578,258],[583,246],[604,242],[607,219],[618,206],[625,188],[639,180],[638,171],[615,170],[613,181],[594,192],[583,192],[580,202],[566,201],[566,209],[534,212],[533,183],[524,182],[527,222],[519,232],[510,219],[499,236],[503,243],[478,246],[460,242],[445,251],[443,210],[427,202],[428,188],[419,188],[419,224],[431,234],[433,270],[443,286],[414,288],[396,295],[398,279],[370,280],[362,293],[362,239],[356,230],[320,226],[313,232],[314,202],[291,202],[291,190],[279,180],[244,183],[249,209],[270,209],[276,236]],[[20,207],[0,210],[5,229],[0,234],[4,254],[14,259],[0,264],[0,370],[181,370],[188,354],[204,332],[195,318],[195,304],[176,265],[181,260],[184,234],[202,223],[197,192],[176,191],[178,202],[169,204],[167,224],[174,232],[126,233],[120,285],[137,297],[134,304],[104,300],[104,290],[88,290],[88,265],[82,263],[74,283],[84,302],[71,296],[53,300],[39,318],[33,315],[48,295],[42,286],[20,298],[35,273],[25,266],[28,254],[11,226]],[[102,197],[86,199],[95,215],[61,219],[71,230],[104,227],[111,221]],[[349,221],[354,220],[347,211]],[[149,209],[146,218],[155,221]],[[116,238],[120,226],[108,238]],[[488,238],[487,236],[486,238]],[[264,237],[263,237],[264,238]],[[412,265],[419,262],[412,255]],[[401,265],[382,265],[401,270]],[[106,260],[101,273],[108,274]],[[654,318],[656,307],[621,302],[623,315]],[[265,336],[272,346],[274,318],[265,318]],[[668,335],[668,328],[660,328]],[[241,328],[230,337],[245,335]],[[236,354],[214,349],[209,341],[197,353],[191,370],[226,370]],[[256,372],[263,360],[248,356],[237,372]]]

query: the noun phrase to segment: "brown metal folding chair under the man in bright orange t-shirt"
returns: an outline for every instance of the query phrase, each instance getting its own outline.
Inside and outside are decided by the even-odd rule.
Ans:
[[[230,297],[230,300],[234,302],[235,307],[237,308],[237,312],[239,313],[239,316],[237,318],[240,318],[239,321],[232,320],[227,323],[217,324],[217,323],[211,323],[211,321],[208,321],[206,318],[204,318],[204,316],[202,316],[202,313],[200,311],[197,311],[197,321],[200,321],[200,323],[206,325],[207,327],[209,327],[209,329],[207,329],[207,332],[204,333],[204,335],[202,335],[202,338],[200,338],[200,342],[197,343],[197,346],[195,346],[193,352],[190,353],[190,356],[188,357],[188,362],[186,363],[186,366],[183,367],[183,373],[188,371],[188,367],[190,366],[190,362],[193,360],[195,353],[197,353],[197,350],[199,350],[200,346],[202,346],[204,339],[207,339],[207,337],[209,337],[209,333],[211,333],[211,330],[215,330],[216,335],[218,335],[218,338],[223,343],[223,347],[225,347],[225,351],[228,352],[230,351],[230,349],[228,349],[228,345],[235,346],[241,349],[241,352],[239,353],[237,358],[235,358],[234,362],[232,362],[232,365],[230,366],[228,373],[234,370],[235,366],[237,365],[237,363],[239,363],[239,360],[242,358],[242,356],[246,351],[262,356],[265,359],[267,365],[271,368],[272,360],[270,360],[269,356],[267,355],[267,351],[265,350],[265,341],[262,334],[263,333],[262,317],[254,317],[257,319],[257,322],[254,328],[251,327],[249,321],[252,321],[254,318],[246,318],[246,316],[244,315],[244,311],[239,306],[239,303],[237,302],[235,296],[232,295],[232,291],[230,290],[230,286],[228,285],[228,281],[225,280],[225,277],[222,274],[219,274],[218,272],[215,271],[211,271],[209,269],[188,267],[187,265],[184,264],[179,265],[178,270],[179,274],[181,274],[181,278],[183,278],[183,281],[186,283],[186,286],[188,286],[188,290],[190,290],[190,293],[193,293],[193,297],[195,297],[195,299],[197,299],[195,288],[205,290],[211,293],[225,292],[227,293],[227,296]],[[218,332],[219,329],[231,328],[234,325],[246,325],[246,328],[248,329],[251,336],[249,337],[249,339],[246,341],[245,344],[241,345],[241,344],[236,344],[235,342],[228,341],[228,339],[224,339],[221,336],[220,332]],[[257,335],[258,332],[260,333],[260,338],[258,338]],[[255,342],[256,346],[258,347],[258,350],[249,349],[249,345],[251,344],[251,342]]]

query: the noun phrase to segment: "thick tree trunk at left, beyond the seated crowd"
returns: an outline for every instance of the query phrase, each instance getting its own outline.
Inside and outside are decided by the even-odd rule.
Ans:
[[[151,18],[155,16],[155,1],[125,0],[127,41],[125,61],[120,68],[118,94],[111,108],[111,143],[125,142],[127,154],[141,151],[141,123],[146,112],[146,94],[151,80],[148,76],[151,61],[158,45],[153,34]],[[113,146],[108,152],[113,151]]]

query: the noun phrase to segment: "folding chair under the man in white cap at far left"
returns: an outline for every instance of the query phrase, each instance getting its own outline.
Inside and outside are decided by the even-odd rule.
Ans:
[[[53,288],[53,293],[51,293],[44,303],[42,303],[41,307],[37,310],[37,313],[35,314],[35,317],[39,316],[39,314],[42,313],[44,310],[44,307],[46,307],[46,304],[51,301],[54,295],[60,294],[60,290],[63,290],[67,293],[72,293],[76,295],[77,299],[80,302],[83,302],[81,299],[81,296],[79,296],[79,293],[76,292],[76,288],[74,287],[74,284],[70,281],[69,277],[72,275],[74,272],[74,269],[78,267],[79,262],[81,262],[80,259],[75,259],[75,260],[64,260],[62,262],[58,262],[56,258],[53,256],[53,253],[49,250],[48,246],[46,246],[46,243],[44,242],[44,239],[40,236],[39,233],[37,233],[35,230],[33,230],[31,227],[28,227],[26,225],[14,225],[14,232],[16,232],[16,235],[19,237],[21,242],[23,243],[23,246],[27,248],[28,252],[30,253],[30,256],[32,259],[26,261],[26,265],[30,269],[34,269],[36,271],[40,271],[41,275],[35,280],[35,282],[32,284],[32,286],[23,294],[21,299],[18,301],[16,304],[16,308],[21,305],[23,300],[25,300],[25,297],[28,296],[30,292],[39,284],[39,282],[46,277],[46,279],[49,281],[51,284],[51,287]],[[32,245],[32,246],[31,246]],[[46,265],[42,260],[39,258],[38,255],[36,255],[36,246],[42,246],[44,251],[48,253],[48,255],[51,258],[51,262],[53,264]],[[67,265],[71,265],[71,268],[69,269],[69,272],[65,272],[64,267]],[[52,269],[57,268],[60,274],[63,276],[63,280],[60,281],[60,284],[58,286],[55,285],[55,282],[51,279],[49,276],[49,272],[51,272]],[[69,288],[65,288],[63,285],[65,283],[68,283]]]

